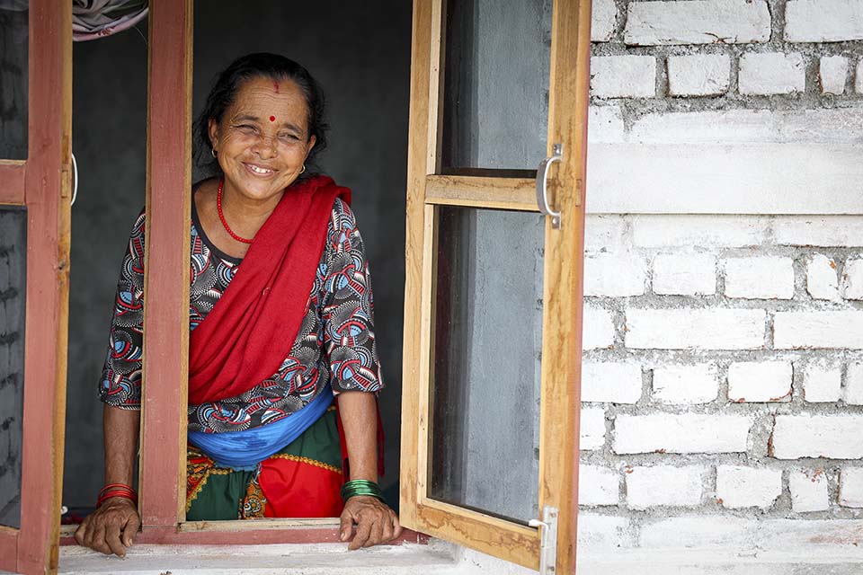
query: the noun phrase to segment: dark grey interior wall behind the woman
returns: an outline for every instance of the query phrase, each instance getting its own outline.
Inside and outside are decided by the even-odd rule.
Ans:
[[[320,164],[350,186],[369,251],[378,337],[388,389],[385,490],[395,492],[401,402],[405,180],[410,3],[314,4],[208,0],[195,7],[194,111],[235,57],[292,57],[323,84],[332,132]],[[143,31],[146,35],[146,31]],[[93,504],[102,485],[101,405],[96,385],[106,352],[120,259],[144,204],[147,46],[138,31],[77,43],[73,140],[81,187],[72,213],[67,458],[64,502]],[[397,496],[389,497],[397,502]]]

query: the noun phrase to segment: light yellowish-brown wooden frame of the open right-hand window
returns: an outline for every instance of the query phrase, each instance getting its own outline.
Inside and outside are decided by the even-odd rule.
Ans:
[[[538,212],[536,181],[444,175],[440,163],[445,69],[444,0],[414,3],[414,48],[405,238],[405,344],[402,378],[400,512],[405,526],[531,569],[541,534],[429,496],[436,214],[440,206]],[[578,437],[583,312],[583,184],[589,96],[591,3],[555,0],[548,114],[548,155],[565,155],[553,179],[561,229],[546,222],[538,507],[560,511],[556,569],[574,572],[578,511]],[[476,172],[476,170],[466,171]],[[419,334],[419,335],[417,335]],[[554,334],[554,337],[549,337]]]

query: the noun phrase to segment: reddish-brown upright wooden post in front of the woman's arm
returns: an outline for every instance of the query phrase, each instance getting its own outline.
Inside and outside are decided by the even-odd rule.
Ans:
[[[150,3],[144,366],[138,491],[148,527],[185,513],[192,0]],[[153,262],[152,265],[150,262]]]

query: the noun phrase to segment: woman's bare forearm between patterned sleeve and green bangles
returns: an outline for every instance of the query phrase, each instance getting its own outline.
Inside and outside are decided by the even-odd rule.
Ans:
[[[378,481],[378,404],[375,394],[339,394],[344,442],[348,448],[351,480]]]

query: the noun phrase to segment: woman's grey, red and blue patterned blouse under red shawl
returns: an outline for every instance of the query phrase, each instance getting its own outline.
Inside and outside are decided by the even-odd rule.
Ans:
[[[191,202],[189,329],[218,302],[242,260],[221,252],[203,232]],[[266,425],[288,417],[320,394],[377,392],[383,387],[373,329],[369,263],[351,208],[336,199],[324,252],[297,340],[279,370],[245,394],[189,406],[189,429],[219,433]],[[123,258],[111,339],[99,396],[123,409],[140,409],[143,342],[144,229],[142,211]]]

